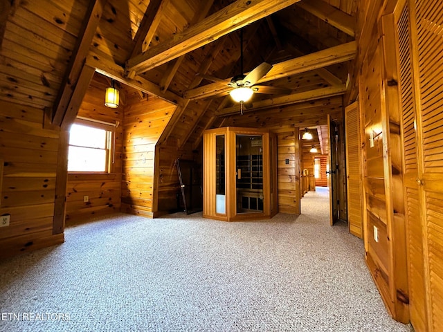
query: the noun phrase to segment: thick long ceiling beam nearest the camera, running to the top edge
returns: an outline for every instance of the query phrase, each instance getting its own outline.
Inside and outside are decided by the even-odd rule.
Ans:
[[[130,77],[132,72],[140,74],[149,71],[298,1],[300,0],[235,1],[199,24],[175,35],[168,42],[129,59],[126,64],[128,75]]]

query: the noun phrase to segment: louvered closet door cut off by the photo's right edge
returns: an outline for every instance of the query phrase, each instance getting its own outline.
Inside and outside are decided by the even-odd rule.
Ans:
[[[430,331],[443,329],[443,1],[415,1]],[[426,247],[425,247],[426,249]],[[426,253],[426,252],[425,252]]]

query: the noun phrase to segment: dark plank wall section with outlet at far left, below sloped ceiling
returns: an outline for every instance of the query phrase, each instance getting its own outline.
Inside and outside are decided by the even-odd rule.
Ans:
[[[10,215],[0,258],[64,241],[53,231],[60,131],[44,129],[43,118],[42,109],[0,101],[0,215]]]

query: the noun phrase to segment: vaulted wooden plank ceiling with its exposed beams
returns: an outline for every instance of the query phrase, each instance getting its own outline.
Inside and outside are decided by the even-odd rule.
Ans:
[[[312,127],[343,109],[354,42],[355,0],[28,0],[0,7],[0,99],[69,119],[93,68],[123,94],[177,104],[163,140],[199,143],[220,125]],[[259,81],[288,95],[239,104],[223,82],[262,62]],[[272,110],[272,111],[270,111]],[[321,122],[321,123],[320,123]],[[174,128],[183,124],[187,131]]]

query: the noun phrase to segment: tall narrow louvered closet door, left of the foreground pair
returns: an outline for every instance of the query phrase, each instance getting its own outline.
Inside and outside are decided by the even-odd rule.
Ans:
[[[426,284],[424,268],[424,221],[420,216],[417,183],[417,136],[410,44],[410,12],[405,6],[397,22],[399,39],[399,78],[401,122],[404,140],[404,187],[406,200],[406,241],[408,247],[408,283],[410,322],[417,332],[427,330]]]

